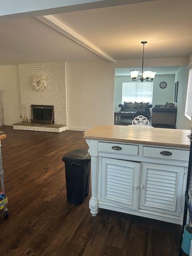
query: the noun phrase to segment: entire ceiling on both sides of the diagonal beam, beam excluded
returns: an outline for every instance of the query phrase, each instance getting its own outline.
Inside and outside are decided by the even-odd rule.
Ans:
[[[188,57],[192,0],[156,0],[53,17],[112,60]],[[59,31],[59,30],[58,30]],[[0,64],[103,60],[36,18],[0,21]]]

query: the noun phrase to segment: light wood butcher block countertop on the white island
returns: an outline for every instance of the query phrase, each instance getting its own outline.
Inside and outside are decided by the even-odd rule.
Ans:
[[[190,138],[187,137],[188,134],[190,134],[190,130],[104,125],[87,130],[84,132],[84,138],[176,148],[190,148]]]

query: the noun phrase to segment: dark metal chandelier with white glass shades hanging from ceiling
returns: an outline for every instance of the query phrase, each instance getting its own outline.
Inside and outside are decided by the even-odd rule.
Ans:
[[[152,82],[154,77],[155,77],[155,74],[156,72],[151,72],[151,71],[143,71],[143,63],[144,63],[144,46],[145,44],[147,43],[146,41],[142,41],[141,42],[143,44],[143,59],[142,59],[142,72],[140,74],[140,78],[136,79],[138,77],[138,74],[140,71],[132,71],[130,72],[131,73],[131,78],[132,78],[132,81],[138,81],[138,80],[141,80],[141,82],[143,82],[144,80],[145,81],[148,81],[148,82]]]

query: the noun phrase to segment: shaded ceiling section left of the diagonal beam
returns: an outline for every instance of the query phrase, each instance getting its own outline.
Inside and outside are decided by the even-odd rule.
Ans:
[[[102,60],[36,18],[0,22],[0,64]]]

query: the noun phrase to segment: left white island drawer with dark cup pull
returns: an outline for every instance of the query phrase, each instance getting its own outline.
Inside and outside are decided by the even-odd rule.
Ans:
[[[99,142],[98,151],[112,152],[115,154],[138,155],[138,145]]]

